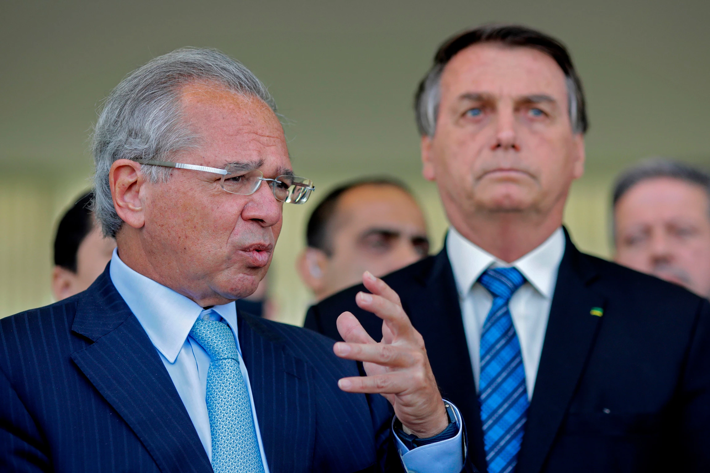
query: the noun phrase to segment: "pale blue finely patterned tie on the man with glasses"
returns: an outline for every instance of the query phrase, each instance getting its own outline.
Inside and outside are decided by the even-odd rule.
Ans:
[[[263,473],[234,334],[226,323],[198,318],[190,335],[210,357],[206,401],[214,473]]]

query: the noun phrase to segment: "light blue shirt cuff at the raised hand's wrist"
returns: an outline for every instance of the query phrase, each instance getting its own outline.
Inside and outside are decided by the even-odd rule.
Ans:
[[[439,442],[421,445],[410,450],[396,435],[392,420],[392,434],[395,438],[395,445],[399,452],[402,464],[407,472],[417,473],[459,473],[464,467],[465,448],[463,421],[457,406],[445,401],[454,411],[455,421],[458,431],[452,438],[440,440]]]

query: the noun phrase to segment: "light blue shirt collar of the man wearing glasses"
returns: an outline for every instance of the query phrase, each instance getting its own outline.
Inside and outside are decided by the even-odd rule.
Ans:
[[[126,301],[133,315],[143,325],[155,348],[170,362],[174,363],[187,335],[195,325],[197,317],[204,310],[191,299],[178,294],[126,266],[119,252],[114,249],[109,268],[111,282]],[[214,306],[236,336],[236,305],[234,302]]]

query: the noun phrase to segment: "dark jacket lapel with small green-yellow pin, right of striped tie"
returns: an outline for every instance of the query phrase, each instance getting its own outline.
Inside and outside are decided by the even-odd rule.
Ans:
[[[545,343],[537,369],[535,391],[528,410],[518,473],[540,472],[584,372],[601,318],[591,308],[604,299],[589,289],[596,272],[589,260],[567,239],[559,265],[555,295],[547,321]]]

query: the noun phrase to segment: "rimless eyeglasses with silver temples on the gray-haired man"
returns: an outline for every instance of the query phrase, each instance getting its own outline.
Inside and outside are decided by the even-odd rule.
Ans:
[[[195,171],[212,172],[214,174],[222,174],[222,179],[219,180],[219,185],[224,191],[229,194],[239,194],[241,196],[249,196],[257,191],[261,186],[261,182],[266,182],[273,196],[286,204],[305,204],[312,191],[315,191],[313,182],[310,179],[303,177],[289,176],[288,174],[278,176],[276,179],[268,179],[264,177],[263,172],[258,169],[251,169],[248,172],[230,172],[231,165],[224,169],[218,167],[207,167],[197,165],[186,165],[182,162],[167,162],[167,161],[146,161],[145,165],[163,166],[163,167],[178,167],[180,169],[192,169]]]

